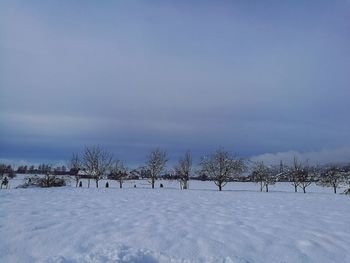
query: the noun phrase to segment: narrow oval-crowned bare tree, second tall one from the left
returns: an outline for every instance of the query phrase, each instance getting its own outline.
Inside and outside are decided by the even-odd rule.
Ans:
[[[167,161],[166,151],[162,151],[158,148],[151,151],[147,156],[146,167],[150,173],[152,189],[154,188],[154,183],[157,180],[157,177],[164,171]]]

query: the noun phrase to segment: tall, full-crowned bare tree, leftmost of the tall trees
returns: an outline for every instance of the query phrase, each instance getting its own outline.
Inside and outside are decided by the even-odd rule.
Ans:
[[[83,155],[83,168],[87,175],[98,181],[110,170],[112,155],[100,146],[86,147]]]

